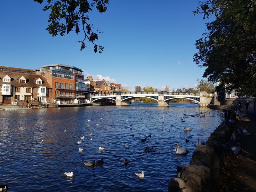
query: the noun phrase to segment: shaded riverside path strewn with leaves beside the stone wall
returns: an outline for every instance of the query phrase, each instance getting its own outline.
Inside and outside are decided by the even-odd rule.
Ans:
[[[237,156],[234,153],[226,156],[220,173],[220,191],[256,192],[256,110],[246,111],[243,108],[242,121],[238,121],[236,126],[244,127],[252,135],[237,134],[241,138],[238,144],[241,144],[243,151]]]

